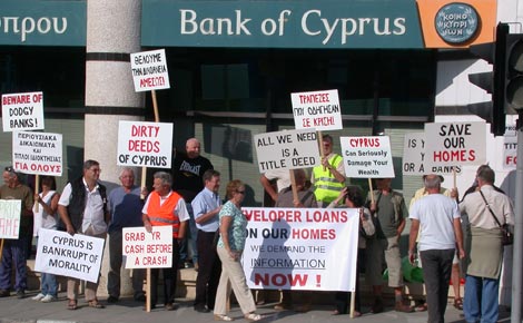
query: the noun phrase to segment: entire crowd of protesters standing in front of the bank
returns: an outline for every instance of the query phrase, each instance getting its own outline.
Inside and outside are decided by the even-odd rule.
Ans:
[[[375,189],[365,198],[363,190],[346,186],[343,158],[333,151],[333,138],[322,138],[324,157],[312,169],[307,180],[305,169],[270,170],[260,183],[275,207],[351,207],[359,208],[359,238],[357,267],[365,271],[372,286],[372,313],[384,311],[383,272],[387,270],[388,286],[394,291],[394,310],[399,312],[428,311],[430,323],[444,322],[448,282],[455,290],[454,305],[463,309],[466,322],[496,322],[499,316],[499,285],[503,263],[503,224],[514,224],[510,198],[494,186],[495,174],[481,166],[474,185],[458,198],[456,189],[444,189],[443,177],[423,176],[424,187],[416,192],[407,208],[404,196],[392,188],[392,178],[375,180]],[[175,295],[178,267],[194,267],[197,274],[195,311],[214,313],[217,321],[233,321],[228,316],[228,298],[234,292],[243,314],[249,321],[259,321],[256,305],[265,302],[263,291],[254,297],[247,286],[240,258],[245,246],[247,219],[241,213],[246,187],[241,180],[227,184],[226,196],[219,196],[220,174],[209,159],[200,155],[200,144],[190,138],[185,151],[175,151],[172,172],[157,172],[152,190],[135,184],[135,172],[120,172],[120,186],[107,192],[99,182],[100,165],[83,163],[82,175],[71,179],[57,192],[53,177],[42,176],[33,194],[22,184],[12,167],[3,170],[4,184],[0,199],[20,199],[20,232],[18,239],[4,239],[0,265],[0,297],[23,298],[27,290],[26,260],[31,232],[38,237],[40,228],[60,229],[70,235],[83,234],[108,239],[109,273],[107,303],[120,298],[122,266],[122,228],[144,226],[172,227],[172,266],[151,270],[151,307],[158,305],[159,272],[164,280],[164,309],[176,310]],[[290,180],[290,178],[293,180]],[[273,182],[276,180],[276,186]],[[295,183],[297,194],[293,194]],[[145,198],[144,198],[145,197]],[[34,219],[31,228],[31,219]],[[426,302],[412,306],[404,296],[404,266],[399,239],[411,219],[408,262],[423,267]],[[108,237],[107,237],[108,235]],[[465,293],[460,296],[461,275],[465,277]],[[16,280],[11,284],[11,270]],[[354,316],[362,315],[359,280],[356,281]],[[144,302],[144,271],[132,270],[134,298]],[[78,309],[79,280],[67,280],[67,309]],[[103,309],[97,297],[98,283],[88,282],[85,298],[89,307]],[[41,275],[41,291],[32,297],[43,303],[57,300],[58,283],[52,274]],[[304,304],[294,306],[293,293],[280,291],[276,310],[306,312],[312,306],[312,293],[302,293]],[[349,294],[336,293],[333,314],[348,312]]]

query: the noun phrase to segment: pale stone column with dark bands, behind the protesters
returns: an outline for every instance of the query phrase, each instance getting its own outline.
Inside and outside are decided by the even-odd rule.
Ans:
[[[129,53],[141,50],[140,0],[87,1],[85,159],[100,163],[108,189],[119,185],[118,121],[142,120],[145,95],[135,92]],[[140,174],[137,174],[139,180]],[[107,295],[108,244],[99,295]],[[122,271],[121,295],[132,294]]]

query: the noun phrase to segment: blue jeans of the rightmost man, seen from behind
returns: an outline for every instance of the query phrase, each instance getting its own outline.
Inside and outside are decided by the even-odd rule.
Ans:
[[[463,312],[468,323],[497,322],[500,281],[466,275]]]

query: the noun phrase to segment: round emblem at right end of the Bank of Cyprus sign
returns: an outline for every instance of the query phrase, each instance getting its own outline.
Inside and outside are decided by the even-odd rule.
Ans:
[[[476,10],[466,3],[448,3],[437,11],[434,23],[443,40],[463,43],[476,35],[480,17]]]

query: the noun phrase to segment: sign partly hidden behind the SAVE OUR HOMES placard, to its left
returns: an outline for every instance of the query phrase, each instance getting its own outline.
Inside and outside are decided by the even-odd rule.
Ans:
[[[425,175],[425,174],[456,174],[462,172],[461,166],[431,166],[425,160],[425,133],[406,134],[403,141],[403,175]]]

